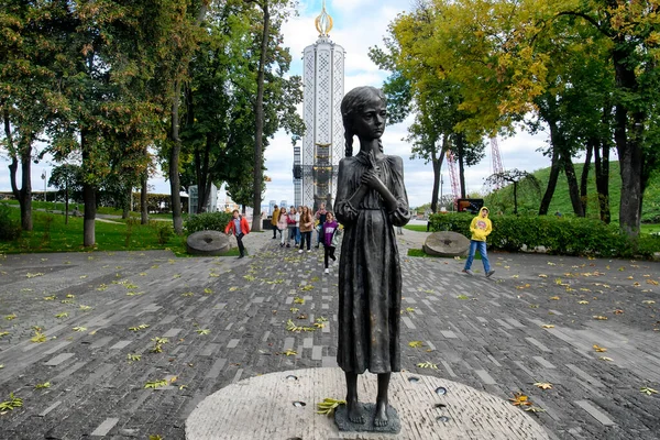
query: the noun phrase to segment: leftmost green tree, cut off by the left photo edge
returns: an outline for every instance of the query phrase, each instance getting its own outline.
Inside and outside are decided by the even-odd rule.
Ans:
[[[32,230],[31,167],[38,161],[34,143],[63,101],[52,84],[59,46],[51,22],[58,18],[53,4],[18,0],[4,1],[0,12],[0,146],[10,160],[11,188],[26,231]]]

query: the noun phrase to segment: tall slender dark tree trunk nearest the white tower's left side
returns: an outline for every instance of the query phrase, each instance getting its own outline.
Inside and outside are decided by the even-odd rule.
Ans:
[[[271,26],[271,14],[268,12],[268,0],[263,2],[264,29],[262,34],[262,46],[258,59],[258,72],[256,76],[256,102],[254,105],[255,133],[254,133],[254,201],[253,212],[261,212],[262,185],[263,185],[263,133],[264,133],[264,69],[266,65],[266,51],[268,50],[268,33]],[[261,231],[262,221],[258,215],[252,216],[252,230]]]

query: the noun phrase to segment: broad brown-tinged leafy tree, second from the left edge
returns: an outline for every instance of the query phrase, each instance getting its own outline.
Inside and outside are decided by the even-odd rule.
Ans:
[[[52,128],[52,152],[56,158],[80,155],[85,246],[95,243],[98,188],[111,175],[125,180],[127,169],[144,172],[146,145],[158,132],[160,109],[150,90],[154,47],[170,37],[154,25],[154,18],[168,12],[168,3],[158,4],[62,2],[66,20],[53,21],[62,35],[55,81],[67,102]]]

